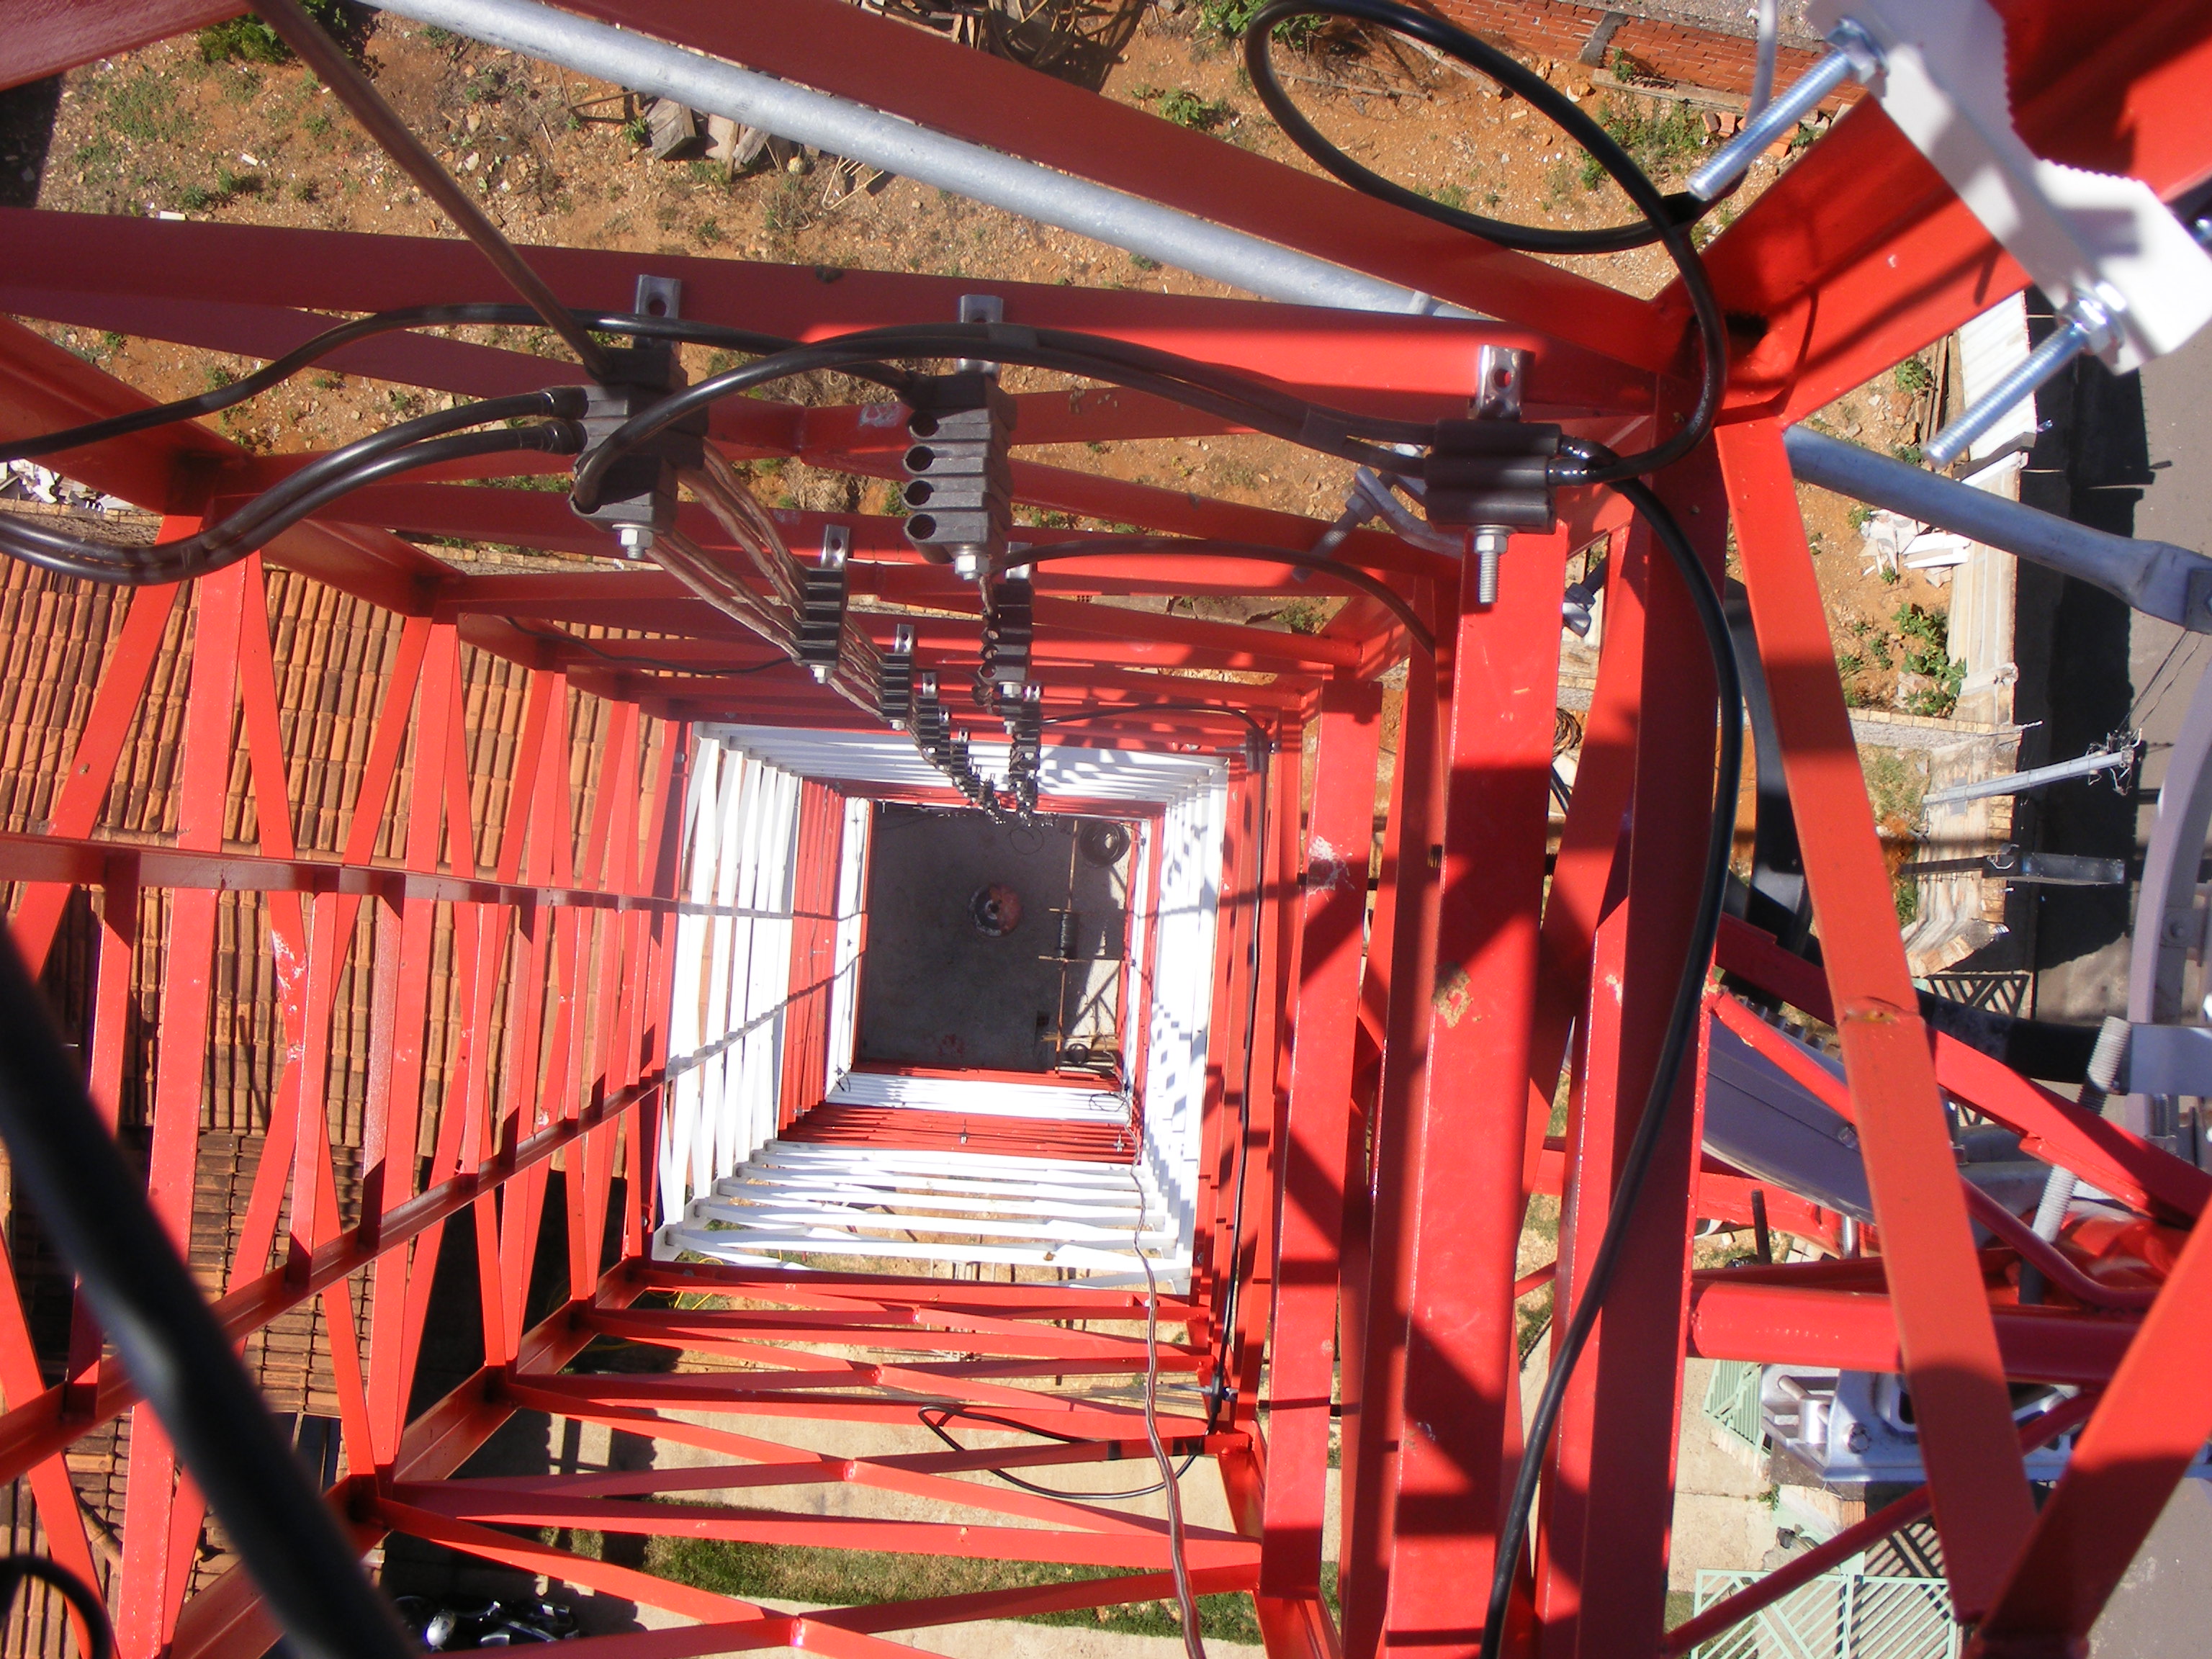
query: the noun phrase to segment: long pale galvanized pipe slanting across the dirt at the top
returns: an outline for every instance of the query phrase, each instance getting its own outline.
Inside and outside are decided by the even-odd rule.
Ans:
[[[885,173],[933,184],[1164,265],[1230,283],[1261,299],[1354,312],[1473,316],[1433,294],[1279,248],[1243,230],[1214,226],[1091,179],[933,133],[867,104],[794,86],[721,58],[553,11],[533,0],[398,0],[385,11],[653,97],[668,97],[686,108],[759,126],[794,144],[812,144]]]

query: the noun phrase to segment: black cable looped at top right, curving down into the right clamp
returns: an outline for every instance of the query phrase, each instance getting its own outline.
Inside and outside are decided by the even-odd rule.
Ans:
[[[1274,62],[1267,58],[1267,38],[1274,31],[1274,24],[1285,18],[1352,18],[1378,29],[1391,29],[1433,46],[1449,58],[1455,58],[1502,86],[1513,88],[1544,111],[1571,139],[1588,150],[1608,175],[1613,175],[1613,181],[1621,186],[1637,212],[1644,215],[1644,223],[1650,228],[1650,234],[1615,243],[1606,239],[1619,237],[1624,230],[1544,232],[1528,226],[1509,226],[1495,219],[1458,212],[1440,201],[1429,201],[1400,184],[1391,184],[1380,173],[1363,168],[1349,155],[1321,137],[1321,133],[1314,131],[1312,122],[1298,113],[1276,82]],[[1721,392],[1728,383],[1728,327],[1721,319],[1721,301],[1714,296],[1712,281],[1705,276],[1705,261],[1699,259],[1697,243],[1690,241],[1690,226],[1679,217],[1677,206],[1659,192],[1659,186],[1650,181],[1628,150],[1624,150],[1613,135],[1606,133],[1606,128],[1593,122],[1557,86],[1546,82],[1542,75],[1522,69],[1502,51],[1475,40],[1464,29],[1453,29],[1442,18],[1396,4],[1396,0],[1270,0],[1270,4],[1252,13],[1250,24],[1245,27],[1245,66],[1252,75],[1252,88],[1259,93],[1276,124],[1281,124],[1283,133],[1301,150],[1314,157],[1314,161],[1325,166],[1354,190],[1391,201],[1411,212],[1420,212],[1427,219],[1455,226],[1471,237],[1482,237],[1484,241],[1493,241],[1504,248],[1593,254],[1613,252],[1615,248],[1637,248],[1646,241],[1659,241],[1666,246],[1668,257],[1681,272],[1683,294],[1688,294],[1690,314],[1697,321],[1701,365],[1697,403],[1690,409],[1690,418],[1672,438],[1661,438],[1650,449],[1639,453],[1619,456],[1601,465],[1593,465],[1588,460],[1579,465],[1564,465],[1555,469],[1555,482],[1613,484],[1639,473],[1655,473],[1663,467],[1672,467],[1705,440],[1705,434],[1712,431],[1714,416],[1721,411]],[[1540,243],[1535,241],[1537,237],[1568,237],[1571,241]]]

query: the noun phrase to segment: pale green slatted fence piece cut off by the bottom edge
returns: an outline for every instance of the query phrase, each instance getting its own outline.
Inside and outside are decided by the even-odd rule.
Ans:
[[[1710,1409],[1710,1407],[1708,1407]],[[1697,1575],[1697,1610],[1723,1601],[1759,1573]],[[1958,1659],[1960,1628],[1942,1579],[1823,1573],[1734,1630],[1705,1641],[1692,1659]]]

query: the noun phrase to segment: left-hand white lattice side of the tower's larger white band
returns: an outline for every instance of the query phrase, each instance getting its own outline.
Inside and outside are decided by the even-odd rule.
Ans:
[[[659,1146],[664,1217],[684,1214],[776,1133],[799,779],[703,739],[684,812],[686,902]]]

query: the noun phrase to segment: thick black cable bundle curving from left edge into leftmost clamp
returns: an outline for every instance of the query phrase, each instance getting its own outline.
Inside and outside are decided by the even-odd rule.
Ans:
[[[243,560],[272,535],[279,535],[310,513],[321,511],[363,484],[374,484],[394,473],[478,456],[522,451],[580,453],[584,449],[584,429],[575,422],[575,416],[582,414],[582,387],[522,392],[509,398],[469,403],[458,409],[440,409],[332,449],[283,482],[261,491],[219,524],[173,542],[126,546],[71,535],[69,531],[15,515],[0,515],[0,553],[60,575],[77,575],[93,582],[117,582],[124,586],[184,582]],[[544,418],[526,427],[460,431],[462,427],[482,427],[493,420],[529,420],[531,416]]]

